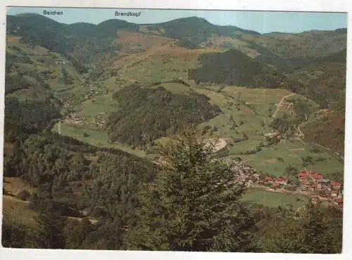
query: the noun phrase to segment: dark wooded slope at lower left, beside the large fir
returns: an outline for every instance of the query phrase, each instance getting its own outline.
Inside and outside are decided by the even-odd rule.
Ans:
[[[5,141],[13,139],[6,138]],[[32,247],[39,248],[66,247],[58,246],[60,244],[68,247],[65,242],[68,237],[62,233],[65,227],[61,222],[63,219],[81,218],[89,214],[101,219],[101,228],[108,228],[104,226],[110,225],[108,219],[118,218],[122,221],[121,225],[132,221],[137,203],[134,194],[139,185],[153,180],[156,169],[155,164],[126,152],[98,149],[73,138],[58,135],[32,134],[13,146],[4,157],[4,177],[19,177],[35,188],[35,191],[29,194],[30,197],[24,199],[29,201],[27,207],[38,212],[39,216],[53,218],[51,226],[46,228],[61,225],[54,239],[46,241],[46,245],[40,244],[43,237],[37,236],[32,240]],[[3,191],[4,195],[8,195],[6,189]],[[25,194],[25,190],[22,193]],[[6,235],[6,230],[15,228],[11,219],[5,219],[3,227],[3,245],[17,245],[11,243],[11,233],[15,231],[10,232],[10,237]],[[26,230],[32,228],[22,226],[20,232],[26,233]],[[96,228],[98,227],[95,226],[94,229]],[[46,232],[49,232],[49,235],[54,231]],[[34,234],[27,231],[23,239],[35,234],[36,230]],[[99,239],[105,237],[106,233],[101,235],[98,236]],[[75,235],[73,239],[74,237]],[[94,242],[89,242],[89,245],[93,246]],[[28,246],[31,247],[27,242],[23,242],[20,247]]]

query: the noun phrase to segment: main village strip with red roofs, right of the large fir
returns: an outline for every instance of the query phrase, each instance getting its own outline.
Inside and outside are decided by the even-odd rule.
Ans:
[[[239,173],[237,183],[246,183],[247,187],[263,186],[287,193],[299,192],[310,195],[313,201],[333,202],[340,207],[344,204],[341,181],[331,181],[315,171],[303,169],[298,174],[298,183],[292,183],[287,176],[263,176],[243,162],[234,162],[232,169]]]

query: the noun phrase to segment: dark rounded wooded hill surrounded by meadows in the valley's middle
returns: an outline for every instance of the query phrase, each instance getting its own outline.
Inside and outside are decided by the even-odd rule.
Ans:
[[[200,124],[221,112],[206,96],[172,93],[162,86],[127,86],[114,93],[113,98],[119,109],[108,117],[109,137],[111,141],[136,146],[175,134],[180,126]]]

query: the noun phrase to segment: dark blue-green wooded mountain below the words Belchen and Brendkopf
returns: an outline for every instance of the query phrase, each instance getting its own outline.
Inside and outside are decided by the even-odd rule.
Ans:
[[[123,20],[107,20],[99,25],[76,23],[65,25],[36,14],[23,14],[7,17],[7,33],[21,38],[21,41],[40,45],[61,53],[77,66],[96,63],[101,56],[119,50],[113,44],[118,37],[117,30],[137,30],[134,25]],[[98,55],[98,57],[96,57]]]

